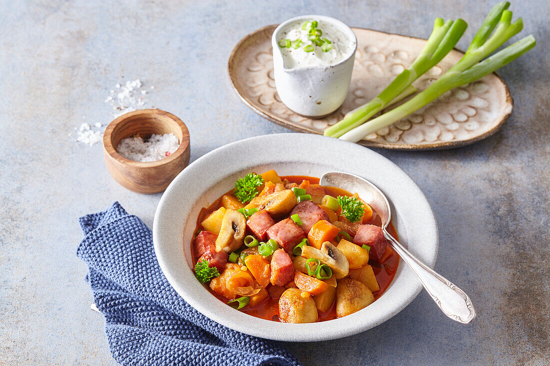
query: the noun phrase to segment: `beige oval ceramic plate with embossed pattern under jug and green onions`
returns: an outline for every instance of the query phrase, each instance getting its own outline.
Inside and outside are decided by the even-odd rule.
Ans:
[[[243,102],[274,123],[299,132],[322,134],[327,126],[383,90],[409,66],[425,40],[352,28],[357,52],[348,97],[336,112],[310,119],[292,112],[279,99],[273,80],[270,25],[244,37],[229,57],[229,76]],[[425,89],[463,53],[453,50],[414,82]],[[455,88],[415,114],[361,140],[361,145],[391,149],[441,149],[467,145],[491,136],[513,109],[508,86],[497,74]]]

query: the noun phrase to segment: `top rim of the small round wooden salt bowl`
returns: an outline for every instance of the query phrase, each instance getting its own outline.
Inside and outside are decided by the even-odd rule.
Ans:
[[[158,115],[163,118],[171,119],[177,124],[179,130],[182,132],[183,141],[179,142],[178,148],[172,154],[170,154],[166,158],[155,160],[154,162],[136,162],[135,160],[130,160],[128,158],[123,157],[117,152],[117,149],[114,148],[113,146],[113,143],[112,143],[113,131],[119,124],[127,123],[129,122],[130,118],[134,118],[139,115],[143,115],[143,117]],[[170,112],[166,112],[166,110],[162,110],[162,109],[156,109],[156,108],[137,109],[137,110],[133,110],[132,112],[124,113],[119,117],[115,118],[114,120],[112,120],[111,123],[107,125],[105,132],[103,132],[103,150],[107,153],[107,155],[112,159],[117,160],[117,162],[120,162],[125,165],[129,165],[130,167],[133,167],[133,168],[153,168],[153,167],[158,167],[160,165],[168,164],[173,160],[176,160],[184,156],[185,151],[188,148],[189,148],[189,130],[187,129],[187,126],[177,116],[175,116]]]

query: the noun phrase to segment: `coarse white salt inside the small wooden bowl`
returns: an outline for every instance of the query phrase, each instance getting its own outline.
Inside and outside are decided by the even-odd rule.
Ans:
[[[140,136],[124,138],[118,144],[117,152],[127,159],[146,163],[170,156],[178,146],[178,138],[172,133],[152,134],[146,140]]]

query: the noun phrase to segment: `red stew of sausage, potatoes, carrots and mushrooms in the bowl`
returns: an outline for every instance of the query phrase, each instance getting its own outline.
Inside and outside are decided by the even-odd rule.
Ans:
[[[345,317],[374,302],[399,256],[368,204],[318,182],[274,170],[237,180],[197,218],[197,279],[235,309],[286,323]]]

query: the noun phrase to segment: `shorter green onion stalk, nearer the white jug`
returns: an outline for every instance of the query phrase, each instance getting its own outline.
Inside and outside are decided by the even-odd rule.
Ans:
[[[454,48],[466,27],[467,24],[462,19],[443,21],[442,18],[437,18],[430,38],[410,67],[397,75],[372,101],[352,110],[343,120],[324,130],[324,135],[340,137],[392,104],[392,101],[397,102],[416,92],[416,88],[411,85],[412,82],[435,66]]]

